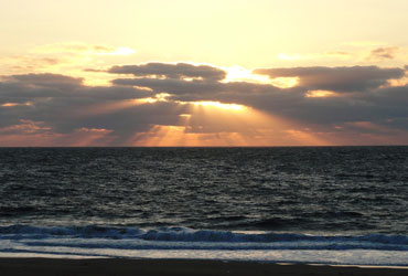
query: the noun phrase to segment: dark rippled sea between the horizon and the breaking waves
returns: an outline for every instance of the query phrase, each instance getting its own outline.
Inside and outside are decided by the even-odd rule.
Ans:
[[[408,234],[408,147],[2,148],[0,225]]]

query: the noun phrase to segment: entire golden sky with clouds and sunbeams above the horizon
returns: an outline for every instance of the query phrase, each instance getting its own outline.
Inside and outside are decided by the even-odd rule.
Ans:
[[[408,145],[406,0],[0,0],[0,147]]]

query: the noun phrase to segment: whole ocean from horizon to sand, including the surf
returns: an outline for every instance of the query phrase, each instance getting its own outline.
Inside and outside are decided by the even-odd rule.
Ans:
[[[408,147],[0,148],[0,257],[408,266]]]

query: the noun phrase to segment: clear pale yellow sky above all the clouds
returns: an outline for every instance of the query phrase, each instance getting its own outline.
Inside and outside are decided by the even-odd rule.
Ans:
[[[367,42],[408,46],[407,10],[405,0],[2,0],[0,52],[80,41],[135,49],[129,63],[318,63]]]

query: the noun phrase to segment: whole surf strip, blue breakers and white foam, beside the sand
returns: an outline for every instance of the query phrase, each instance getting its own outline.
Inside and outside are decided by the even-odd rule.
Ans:
[[[407,266],[405,235],[302,235],[183,227],[0,227],[0,256],[130,257]]]

